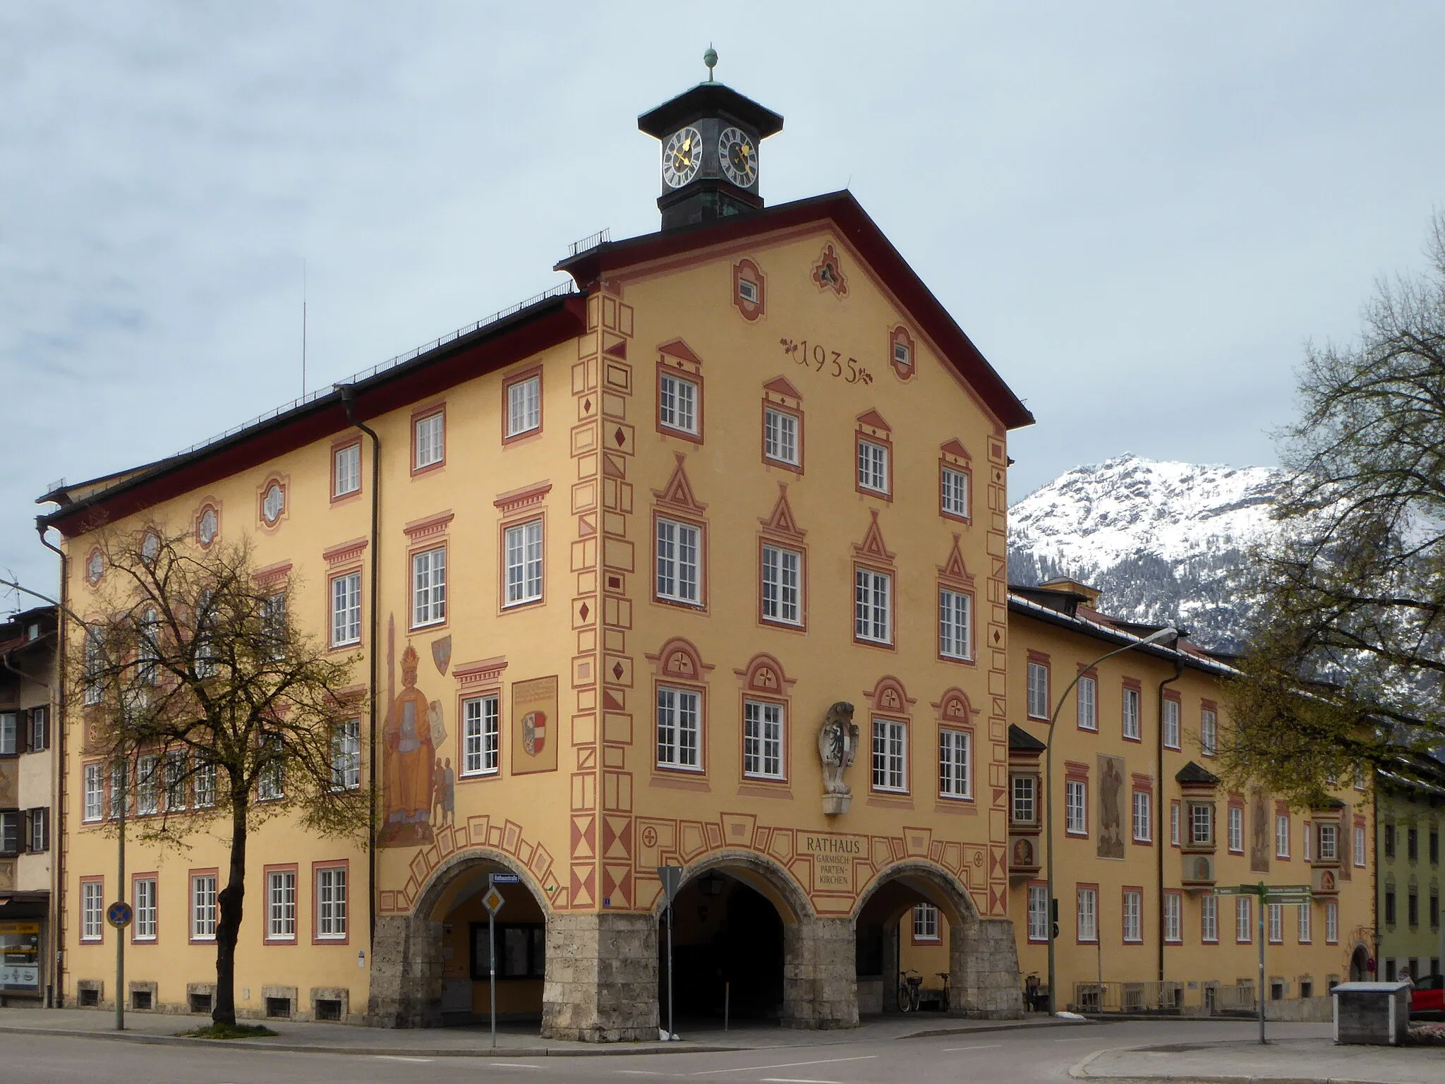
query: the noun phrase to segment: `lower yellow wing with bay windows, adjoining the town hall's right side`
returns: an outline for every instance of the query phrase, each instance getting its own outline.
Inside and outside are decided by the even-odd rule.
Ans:
[[[1259,786],[1225,788],[1211,765],[1228,665],[1181,640],[1091,666],[1156,630],[1100,607],[1098,591],[1066,580],[1009,600],[1009,903],[1035,1007],[1046,1006],[1052,801],[1058,1007],[1253,1009],[1259,903],[1215,889],[1264,882],[1312,893],[1266,909],[1270,1012],[1328,1016],[1329,989],[1364,977],[1373,938],[1370,798],[1345,788],[1327,808],[1290,809]],[[928,978],[946,968],[918,934],[939,925],[920,909],[903,952]]]

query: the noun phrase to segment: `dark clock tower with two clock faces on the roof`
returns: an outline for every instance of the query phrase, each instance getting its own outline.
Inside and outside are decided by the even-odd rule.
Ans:
[[[637,117],[662,142],[663,230],[760,208],[757,145],[783,130],[780,116],[712,78],[717,52],[702,59],[707,82]]]

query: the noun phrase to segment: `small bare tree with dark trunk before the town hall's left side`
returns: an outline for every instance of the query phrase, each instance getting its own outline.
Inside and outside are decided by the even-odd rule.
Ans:
[[[179,844],[230,822],[211,1016],[234,1025],[251,833],[289,815],[324,835],[366,837],[355,659],[328,656],[298,627],[292,584],[259,578],[244,541],[201,549],[152,526],[103,533],[100,552],[71,702],[87,750],[114,765],[113,785],[140,814],[142,840]]]

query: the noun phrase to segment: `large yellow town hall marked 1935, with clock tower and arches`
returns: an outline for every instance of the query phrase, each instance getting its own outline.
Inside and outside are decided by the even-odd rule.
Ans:
[[[82,614],[95,523],[250,536],[364,656],[379,838],[256,833],[243,1015],[487,1012],[480,896],[507,873],[499,1010],[656,1038],[660,866],[679,1012],[854,1025],[928,902],[954,1010],[1019,1013],[1004,476],[1032,418],[850,194],[763,210],[780,117],[709,81],[639,123],[663,230],[574,246],[575,292],[46,496]],[[111,776],[74,747],[65,989],[207,1007],[223,843],[133,846],[117,886]]]

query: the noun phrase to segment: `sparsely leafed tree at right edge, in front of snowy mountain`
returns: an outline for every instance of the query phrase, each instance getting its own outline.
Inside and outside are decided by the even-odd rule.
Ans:
[[[1230,757],[1300,799],[1445,743],[1445,215],[1426,251],[1379,283],[1358,343],[1309,350],[1283,434]]]

